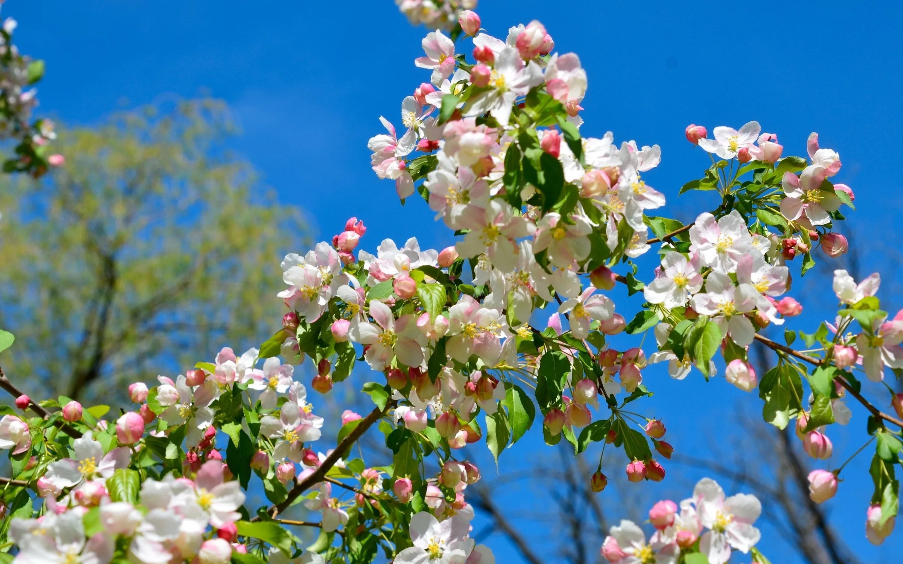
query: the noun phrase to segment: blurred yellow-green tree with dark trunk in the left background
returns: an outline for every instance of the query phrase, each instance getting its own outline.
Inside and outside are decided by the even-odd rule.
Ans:
[[[5,370],[28,393],[103,398],[273,332],[279,258],[307,245],[219,100],[145,106],[61,128],[64,167],[0,178]],[[270,299],[266,299],[269,297]]]

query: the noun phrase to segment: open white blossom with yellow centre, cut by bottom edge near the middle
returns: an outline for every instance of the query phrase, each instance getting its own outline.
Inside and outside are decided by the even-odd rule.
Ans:
[[[399,552],[396,564],[463,564],[473,550],[470,523],[460,516],[439,522],[422,511],[411,517],[410,530],[414,546]]]

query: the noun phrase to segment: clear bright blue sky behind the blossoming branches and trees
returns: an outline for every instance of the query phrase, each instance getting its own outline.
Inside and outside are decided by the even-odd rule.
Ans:
[[[401,99],[428,80],[428,72],[412,64],[426,30],[411,27],[390,0],[249,6],[8,0],[3,14],[19,20],[16,42],[23,52],[47,60],[42,112],[90,125],[116,108],[209,92],[228,101],[243,127],[233,148],[264,173],[281,201],[307,211],[318,235],[331,236],[355,215],[367,222],[371,247],[384,237],[400,242],[412,235],[424,246],[449,245],[451,233],[433,223],[422,201],[398,205],[392,183],[370,171],[366,148],[368,137],[380,133],[377,117],[397,124]],[[510,25],[540,19],[556,51],[580,55],[590,79],[583,133],[611,130],[619,141],[660,144],[662,164],[646,179],[670,198],[670,217],[687,220],[713,203],[706,195],[676,199],[678,187],[698,178],[708,162],[684,140],[686,125],[711,131],[757,119],[778,134],[785,154],[805,154],[806,136],[817,131],[822,145],[842,156],[838,180],[856,192],[851,223],[868,251],[862,268],[869,273],[887,265],[887,252],[900,242],[898,232],[875,226],[888,224],[900,209],[894,155],[903,122],[903,6],[870,6],[783,2],[767,10],[708,2],[482,0],[478,12],[483,27],[502,37]],[[470,42],[465,45],[470,51]],[[794,328],[815,328],[805,321],[819,319],[813,310],[830,300],[801,287],[796,297],[809,309]],[[903,306],[885,297],[891,302],[886,309]],[[658,392],[649,409],[666,418],[678,448],[709,448],[712,434],[739,431],[731,423],[738,402],[759,409],[758,399],[722,380],[674,383],[654,371],[647,378]],[[698,421],[679,417],[701,408]],[[833,431],[836,452],[851,453],[861,444],[865,415],[856,407],[853,412],[855,429]],[[523,448],[523,455],[535,456],[535,447]],[[835,458],[839,464],[844,457]],[[862,533],[867,464],[862,456],[845,472],[852,479],[830,503],[831,522],[862,561],[892,562],[903,533],[880,550]],[[669,469],[688,484],[701,476]],[[679,495],[674,488],[666,480],[653,495]],[[517,561],[505,542],[490,537],[489,543],[507,557],[500,561]],[[796,561],[781,558],[786,547],[768,531],[760,546],[773,561]]]

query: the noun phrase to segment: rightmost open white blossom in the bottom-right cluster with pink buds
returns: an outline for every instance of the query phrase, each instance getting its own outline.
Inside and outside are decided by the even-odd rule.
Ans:
[[[699,540],[699,551],[710,564],[724,564],[731,559],[731,547],[744,554],[761,537],[752,526],[762,513],[762,504],[755,495],[738,494],[725,499],[724,490],[711,478],[703,478],[693,491],[696,512],[705,532]]]

